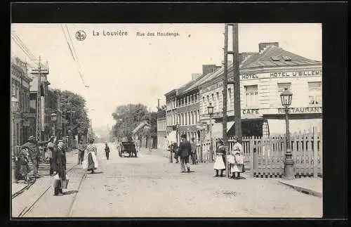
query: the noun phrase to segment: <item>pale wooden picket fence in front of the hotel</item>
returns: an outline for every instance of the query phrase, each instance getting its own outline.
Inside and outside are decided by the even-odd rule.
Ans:
[[[233,138],[228,138],[229,151],[232,151],[233,145]],[[252,177],[284,176],[285,135],[242,137],[241,145],[245,169]],[[323,175],[322,134],[317,132],[317,128],[291,134],[290,145],[296,177]],[[203,143],[201,154],[201,145],[197,146],[199,162],[211,161],[209,147],[210,143]],[[213,149],[216,149],[215,142]]]

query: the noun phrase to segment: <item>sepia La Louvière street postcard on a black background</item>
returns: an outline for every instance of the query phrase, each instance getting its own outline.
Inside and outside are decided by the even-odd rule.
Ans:
[[[322,24],[11,24],[12,218],[323,216]]]

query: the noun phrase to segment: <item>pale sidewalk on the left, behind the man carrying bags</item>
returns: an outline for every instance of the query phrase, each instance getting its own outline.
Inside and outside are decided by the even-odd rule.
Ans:
[[[72,150],[69,153],[66,153],[66,158],[67,158],[67,169],[69,168],[70,164],[76,164],[77,163],[77,154],[78,150]],[[51,179],[51,176],[49,175],[49,164],[39,164],[39,171],[38,174],[41,176],[40,182],[43,181],[44,179]],[[39,179],[34,180],[32,183],[25,183],[24,180],[20,180],[17,183],[12,182],[11,184],[11,191],[12,191],[12,197],[17,196],[23,191],[27,190],[30,188],[34,183],[39,182]]]

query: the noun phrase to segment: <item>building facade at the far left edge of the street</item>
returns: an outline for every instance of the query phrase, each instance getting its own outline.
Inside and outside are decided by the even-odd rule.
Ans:
[[[35,115],[29,114],[29,83],[27,64],[11,58],[11,144],[22,145],[31,134]]]

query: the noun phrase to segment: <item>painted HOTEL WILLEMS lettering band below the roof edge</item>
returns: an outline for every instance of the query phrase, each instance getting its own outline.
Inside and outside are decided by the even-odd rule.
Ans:
[[[318,77],[322,76],[321,70],[293,71],[293,72],[270,72],[260,74],[241,74],[240,79],[260,79],[274,77]]]

